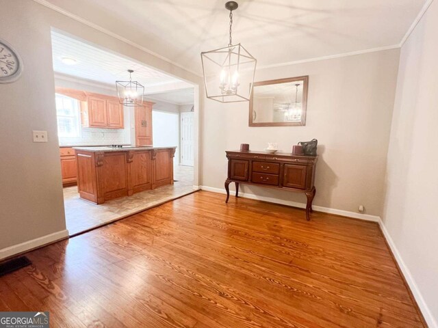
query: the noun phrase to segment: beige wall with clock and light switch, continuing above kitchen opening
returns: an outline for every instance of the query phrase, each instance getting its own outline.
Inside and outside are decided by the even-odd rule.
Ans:
[[[31,0],[0,0],[0,38],[23,57],[21,79],[0,85],[0,258],[66,236],[51,27],[126,55],[175,77],[201,79],[139,47],[122,42]],[[196,106],[198,103],[196,102]],[[48,131],[33,143],[32,130]],[[197,177],[195,177],[197,181]],[[18,245],[24,243],[23,245]]]

